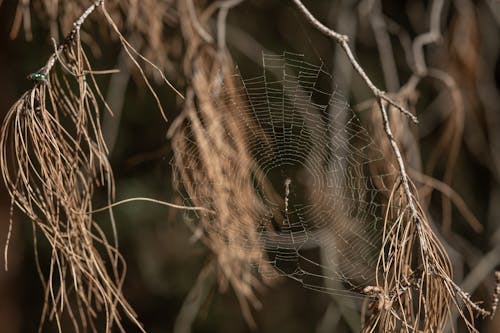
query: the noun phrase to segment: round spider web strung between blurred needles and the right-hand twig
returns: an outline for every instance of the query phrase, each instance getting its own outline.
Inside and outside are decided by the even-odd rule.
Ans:
[[[234,105],[230,121],[253,158],[253,188],[265,207],[253,220],[265,261],[306,288],[359,295],[374,283],[392,166],[374,174],[388,162],[342,94],[321,88],[333,81],[322,66],[265,54],[262,75],[235,75],[241,84],[227,95],[246,104]],[[196,197],[202,185],[190,184],[186,202],[210,202]]]

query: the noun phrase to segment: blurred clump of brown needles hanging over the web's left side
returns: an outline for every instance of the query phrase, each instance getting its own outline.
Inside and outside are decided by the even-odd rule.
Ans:
[[[231,284],[243,314],[253,323],[248,302],[259,306],[254,289],[261,284],[253,267],[266,268],[254,219],[263,214],[263,207],[253,187],[249,134],[234,119],[238,116],[234,108],[245,101],[230,93],[239,82],[229,54],[201,43],[187,10],[179,4],[189,43],[184,70],[192,81],[184,110],[169,133],[175,169],[193,204],[213,211],[199,216],[201,230],[197,232],[217,257],[221,286],[224,281]]]

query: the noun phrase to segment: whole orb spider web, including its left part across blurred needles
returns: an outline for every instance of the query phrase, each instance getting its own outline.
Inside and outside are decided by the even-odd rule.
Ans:
[[[211,96],[214,114],[222,117],[216,131],[219,141],[243,145],[248,157],[234,156],[236,148],[217,149],[208,120],[187,121],[173,161],[186,203],[215,211],[195,218],[205,220],[204,232],[215,233],[228,252],[234,242],[243,253],[260,251],[249,264],[261,276],[277,273],[314,290],[358,294],[375,278],[392,166],[342,94],[328,87],[333,80],[322,66],[298,54],[264,55],[262,75],[234,79],[239,84],[222,83],[223,93]],[[210,158],[234,161],[218,190],[213,178],[199,176],[210,162],[189,134],[193,126],[205,126]],[[252,195],[228,193],[227,182]],[[246,228],[243,236],[216,227],[214,202],[221,195],[230,228]]]

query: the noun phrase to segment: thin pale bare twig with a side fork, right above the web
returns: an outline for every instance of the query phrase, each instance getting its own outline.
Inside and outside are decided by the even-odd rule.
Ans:
[[[398,110],[400,110],[405,115],[407,115],[415,123],[417,122],[416,117],[413,114],[411,114],[408,110],[406,110],[405,108],[403,108],[402,106],[400,106],[399,104],[394,102],[392,99],[387,97],[384,91],[378,89],[373,84],[373,82],[370,80],[368,75],[365,73],[363,68],[359,65],[358,61],[354,57],[354,55],[351,51],[351,48],[349,46],[349,38],[346,35],[339,34],[335,31],[331,30],[330,28],[327,28],[325,25],[323,25],[321,22],[319,22],[311,14],[311,12],[309,12],[309,10],[304,6],[304,4],[300,0],[293,0],[293,2],[297,5],[299,10],[302,12],[302,14],[304,14],[304,16],[307,18],[307,20],[315,28],[317,28],[323,34],[325,34],[326,36],[332,38],[337,43],[339,43],[339,45],[342,47],[342,49],[346,53],[347,57],[349,58],[351,65],[354,67],[356,72],[358,72],[358,74],[363,78],[363,81],[370,88],[373,95],[375,95],[377,102],[378,102],[378,105],[379,105],[379,108],[380,108],[380,112],[382,113],[382,120],[383,120],[383,124],[384,124],[385,133],[386,133],[387,137],[389,138],[390,144],[391,144],[392,149],[394,151],[394,155],[396,156],[396,160],[397,160],[399,172],[400,172],[400,179],[401,179],[401,183],[403,184],[403,188],[404,188],[407,200],[408,200],[408,206],[412,212],[413,217],[418,219],[420,214],[417,210],[413,195],[412,195],[411,190],[410,190],[410,185],[409,185],[410,181],[409,181],[408,174],[406,172],[406,167],[405,167],[405,164],[403,162],[403,157],[401,155],[401,151],[399,150],[398,144],[396,142],[396,139],[394,138],[391,126],[389,124],[389,116],[387,114],[387,108],[386,108],[385,102],[387,102],[389,105],[396,107]]]

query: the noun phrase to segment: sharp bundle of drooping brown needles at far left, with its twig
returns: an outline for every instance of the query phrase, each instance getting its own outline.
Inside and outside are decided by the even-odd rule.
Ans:
[[[47,266],[37,264],[45,288],[40,329],[70,320],[75,332],[111,332],[123,314],[138,327],[121,287],[125,262],[92,216],[92,197],[113,197],[113,175],[99,125],[104,103],[80,41],[90,6],[46,66],[30,74],[33,88],[8,112],[1,130],[1,169],[12,205],[50,246]],[[111,221],[114,230],[114,220]],[[48,269],[44,269],[47,267]],[[104,313],[104,316],[99,315]]]

